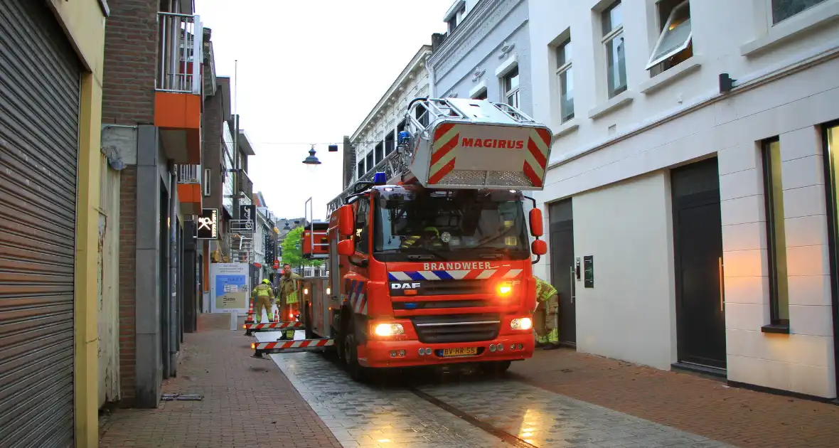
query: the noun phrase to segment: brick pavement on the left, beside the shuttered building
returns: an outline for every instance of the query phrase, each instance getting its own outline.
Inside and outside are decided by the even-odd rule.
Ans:
[[[227,315],[201,315],[185,335],[178,378],[164,393],[201,393],[158,409],[118,409],[100,428],[100,446],[326,448],[341,446],[271,362],[249,357],[252,338],[230,331]]]

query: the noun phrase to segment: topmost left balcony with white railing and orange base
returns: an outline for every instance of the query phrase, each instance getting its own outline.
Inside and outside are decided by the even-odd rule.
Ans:
[[[158,33],[154,125],[166,157],[200,164],[203,26],[197,15],[158,13]]]

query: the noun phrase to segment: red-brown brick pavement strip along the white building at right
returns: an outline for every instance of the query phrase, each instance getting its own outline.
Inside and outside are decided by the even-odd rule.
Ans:
[[[839,406],[571,350],[537,351],[511,378],[743,447],[839,446]]]

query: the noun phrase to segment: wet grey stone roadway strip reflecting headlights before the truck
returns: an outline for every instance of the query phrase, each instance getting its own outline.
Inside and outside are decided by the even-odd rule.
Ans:
[[[729,446],[510,378],[430,383],[393,372],[367,385],[319,353],[270,357],[346,447]]]

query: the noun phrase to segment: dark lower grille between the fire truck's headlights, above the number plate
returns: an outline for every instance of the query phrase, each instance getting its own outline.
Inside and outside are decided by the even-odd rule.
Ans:
[[[501,329],[498,313],[418,315],[410,320],[420,342],[428,344],[491,341]]]

